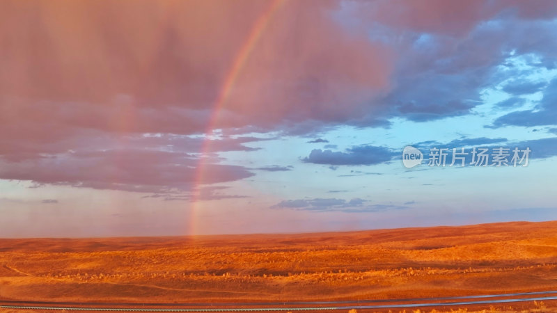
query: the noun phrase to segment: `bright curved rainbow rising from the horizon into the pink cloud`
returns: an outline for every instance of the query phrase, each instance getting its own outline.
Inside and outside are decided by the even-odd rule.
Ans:
[[[191,198],[191,213],[189,216],[189,234],[198,234],[198,211],[200,209],[200,199],[198,198],[198,188],[203,184],[203,179],[205,177],[205,154],[210,151],[211,141],[207,140],[207,137],[213,134],[214,128],[219,121],[220,113],[222,109],[225,108],[230,93],[232,92],[235,82],[239,77],[246,61],[249,59],[251,52],[256,47],[257,42],[261,38],[261,35],[267,29],[267,25],[272,17],[275,15],[276,11],[283,6],[285,0],[272,0],[269,7],[256,19],[256,22],[251,27],[246,40],[237,52],[230,70],[228,70],[222,88],[220,89],[219,95],[214,102],[212,113],[210,115],[210,120],[207,123],[207,129],[205,129],[205,140],[201,147],[201,156],[196,167],[195,179],[194,179],[194,195]]]

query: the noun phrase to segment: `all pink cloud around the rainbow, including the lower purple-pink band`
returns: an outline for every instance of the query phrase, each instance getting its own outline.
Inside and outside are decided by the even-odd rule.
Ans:
[[[205,132],[238,51],[269,3],[3,2],[0,178],[191,188],[202,140],[176,135]],[[335,8],[287,1],[276,10],[214,127],[268,130],[352,118],[386,90],[388,50],[343,31],[330,17]],[[205,152],[253,150],[243,145],[251,140],[223,138]],[[252,175],[218,161],[210,159],[204,183]]]

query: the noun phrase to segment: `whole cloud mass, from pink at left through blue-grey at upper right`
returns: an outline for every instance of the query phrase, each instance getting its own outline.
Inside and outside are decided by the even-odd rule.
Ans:
[[[350,18],[363,26],[350,28],[335,15],[341,2],[286,1],[230,75],[269,3],[2,1],[0,179],[152,193],[191,188],[202,141],[180,135],[207,131],[227,77],[235,81],[210,125],[224,134],[378,125],[397,114],[427,119],[432,108],[438,117],[463,114],[473,104],[453,98],[473,99],[485,79],[474,70],[501,61],[505,41],[496,32],[468,41],[466,35],[494,16],[546,18],[556,6],[370,1],[354,5]],[[376,25],[392,42],[370,35]],[[420,32],[439,38],[418,49]],[[470,81],[457,77],[465,70]],[[424,105],[423,97],[439,104]],[[205,183],[251,176],[219,164],[217,155],[252,150],[248,141],[207,145]]]

